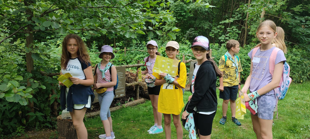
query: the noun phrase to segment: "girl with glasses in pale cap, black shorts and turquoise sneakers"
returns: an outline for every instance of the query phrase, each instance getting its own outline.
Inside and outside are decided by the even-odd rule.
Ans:
[[[153,67],[156,60],[157,55],[160,56],[160,53],[157,52],[158,45],[156,41],[150,40],[146,44],[146,48],[148,50],[148,57],[144,58],[144,66],[146,66],[146,69],[144,71],[141,71],[142,74],[146,74],[146,76],[150,76],[153,74]],[[139,70],[137,70],[137,73]],[[157,110],[157,104],[158,104],[158,95],[160,91],[160,85],[155,86],[155,77],[151,76],[151,79],[146,78],[145,82],[147,82],[148,86],[148,95],[151,99],[152,107],[153,107],[153,116],[154,116],[154,125],[148,129],[149,134],[157,134],[162,133],[162,113],[158,112]],[[152,82],[152,83],[148,83]]]

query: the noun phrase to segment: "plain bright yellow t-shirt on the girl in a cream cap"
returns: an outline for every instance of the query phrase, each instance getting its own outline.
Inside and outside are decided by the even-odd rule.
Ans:
[[[158,73],[153,73],[157,79],[161,80],[162,77]],[[186,84],[186,67],[183,62],[180,63],[180,75],[176,79],[180,86],[185,88]],[[175,89],[178,88],[178,89]],[[158,96],[158,112],[165,114],[179,115],[184,107],[183,91],[181,88],[176,87],[174,84],[168,85],[164,83]]]

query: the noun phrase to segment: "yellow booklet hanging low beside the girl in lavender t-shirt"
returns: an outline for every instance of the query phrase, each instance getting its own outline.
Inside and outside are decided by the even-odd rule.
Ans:
[[[236,118],[244,119],[243,116],[246,114],[246,101],[244,100],[243,93],[241,92],[240,94],[240,97],[236,100]]]

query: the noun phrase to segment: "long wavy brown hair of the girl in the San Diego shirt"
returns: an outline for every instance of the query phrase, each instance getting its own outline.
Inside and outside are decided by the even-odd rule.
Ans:
[[[75,39],[78,43],[79,59],[86,64],[88,62],[91,63],[90,61],[91,57],[88,55],[86,46],[84,44],[84,41],[81,39],[81,37],[76,34],[68,34],[67,36],[64,37],[64,40],[62,41],[62,54],[60,58],[60,65],[61,65],[61,69],[63,70],[66,69],[68,61],[71,57],[71,54],[67,50],[67,43],[69,39],[72,39],[72,38]]]

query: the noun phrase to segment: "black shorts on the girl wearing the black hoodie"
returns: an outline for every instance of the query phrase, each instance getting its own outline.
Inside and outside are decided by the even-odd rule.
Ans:
[[[195,121],[195,128],[198,133],[202,136],[208,136],[211,134],[212,131],[212,123],[214,116],[216,114],[216,111],[212,114],[200,114],[195,112],[194,114],[194,121]]]

